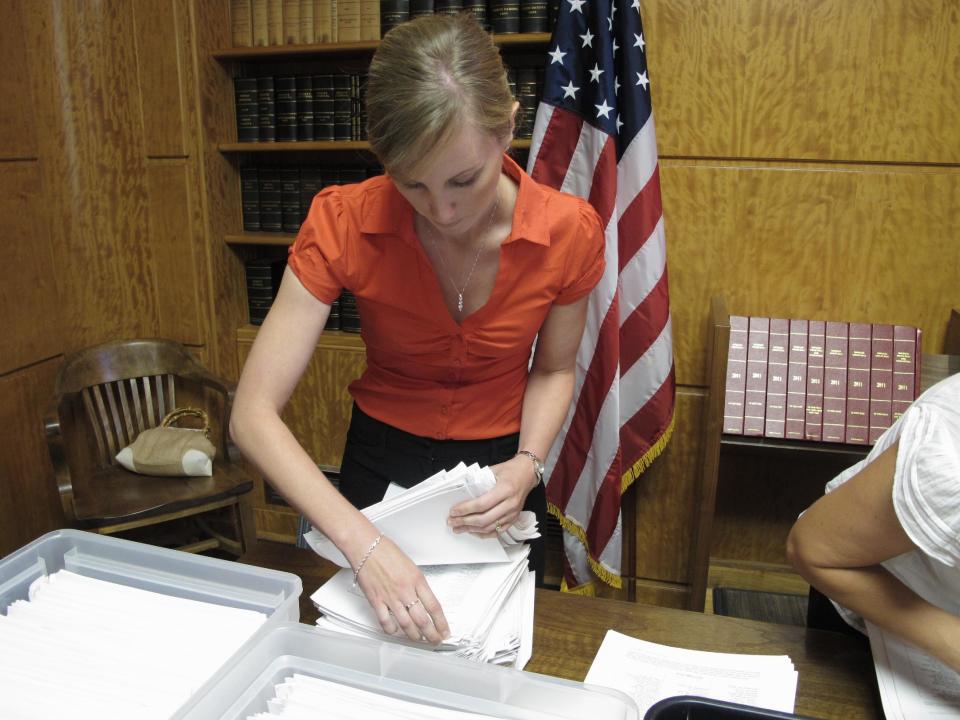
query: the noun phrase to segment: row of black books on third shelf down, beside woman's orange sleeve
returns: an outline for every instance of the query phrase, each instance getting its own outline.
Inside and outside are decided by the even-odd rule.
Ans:
[[[330,185],[363,182],[379,167],[244,167],[240,200],[244,232],[296,233],[313,197]]]

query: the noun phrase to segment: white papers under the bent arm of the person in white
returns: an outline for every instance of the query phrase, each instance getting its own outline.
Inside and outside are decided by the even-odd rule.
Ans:
[[[869,620],[866,625],[887,720],[960,714],[960,675]]]

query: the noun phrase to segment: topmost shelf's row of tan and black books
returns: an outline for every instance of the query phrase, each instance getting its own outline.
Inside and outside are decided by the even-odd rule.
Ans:
[[[549,32],[559,0],[230,0],[234,47],[379,40],[422,15],[469,12],[500,34]]]

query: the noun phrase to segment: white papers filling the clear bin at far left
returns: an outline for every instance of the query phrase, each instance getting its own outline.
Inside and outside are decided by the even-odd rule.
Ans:
[[[0,615],[0,717],[168,718],[266,620],[61,570]]]

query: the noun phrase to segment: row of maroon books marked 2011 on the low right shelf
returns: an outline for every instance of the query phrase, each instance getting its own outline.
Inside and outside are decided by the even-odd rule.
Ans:
[[[918,328],[730,317],[726,434],[872,445],[919,389]]]

